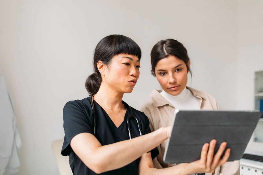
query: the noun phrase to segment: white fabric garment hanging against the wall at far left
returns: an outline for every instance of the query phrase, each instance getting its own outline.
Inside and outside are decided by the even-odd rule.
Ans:
[[[20,166],[18,148],[21,139],[16,127],[16,117],[4,78],[0,76],[0,175],[13,175]]]

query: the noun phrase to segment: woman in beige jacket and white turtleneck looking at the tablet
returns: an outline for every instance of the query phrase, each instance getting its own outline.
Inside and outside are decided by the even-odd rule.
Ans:
[[[170,126],[176,109],[220,110],[215,98],[206,92],[187,87],[190,60],[187,50],[174,39],[161,40],[151,50],[152,75],[156,76],[161,90],[153,90],[151,99],[142,107],[148,116],[152,131]],[[155,168],[166,168],[176,164],[163,161],[167,140],[158,146],[159,155],[153,160]],[[239,161],[226,162],[217,167],[213,175],[239,175]],[[212,173],[203,173],[212,174]]]

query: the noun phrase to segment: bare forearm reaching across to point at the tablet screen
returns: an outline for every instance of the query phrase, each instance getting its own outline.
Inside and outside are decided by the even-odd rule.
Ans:
[[[154,132],[97,148],[94,155],[100,159],[103,172],[123,167],[167,139],[166,130]]]

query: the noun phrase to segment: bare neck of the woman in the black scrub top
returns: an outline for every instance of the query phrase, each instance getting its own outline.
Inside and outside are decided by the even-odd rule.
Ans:
[[[119,110],[124,108],[122,104],[123,95],[123,92],[117,92],[102,82],[93,99],[104,109]]]

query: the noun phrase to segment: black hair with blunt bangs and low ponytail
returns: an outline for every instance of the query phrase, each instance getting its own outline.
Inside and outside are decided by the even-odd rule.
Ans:
[[[94,73],[87,78],[85,83],[89,94],[97,93],[102,81],[97,67],[98,61],[109,65],[112,58],[118,54],[135,55],[138,56],[139,60],[141,59],[141,49],[139,45],[129,37],[125,37],[124,35],[109,35],[100,40],[94,51]]]

